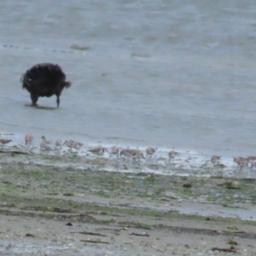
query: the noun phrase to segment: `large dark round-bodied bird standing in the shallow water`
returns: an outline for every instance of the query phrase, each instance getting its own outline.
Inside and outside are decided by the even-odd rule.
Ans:
[[[28,90],[32,105],[38,107],[38,97],[57,96],[57,108],[60,106],[60,96],[64,87],[71,83],[66,81],[66,75],[61,67],[51,63],[37,64],[26,71],[20,79],[22,88]]]

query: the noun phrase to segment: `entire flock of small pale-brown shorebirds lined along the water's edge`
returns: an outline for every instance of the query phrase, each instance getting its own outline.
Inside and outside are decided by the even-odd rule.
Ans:
[[[45,150],[45,151],[49,151],[52,150],[53,148],[51,148],[49,145],[52,143],[52,141],[48,141],[46,139],[45,136],[42,136],[42,141],[40,143],[40,149],[41,150]],[[26,147],[30,147],[32,145],[34,137],[32,136],[32,134],[27,134],[25,136],[25,145]],[[2,145],[8,144],[10,143],[12,140],[10,139],[0,139],[0,143]],[[67,148],[69,148],[71,151],[73,149],[75,149],[76,153],[79,152],[79,149],[84,145],[83,143],[79,143],[73,140],[66,140],[64,142],[62,142],[61,139],[57,139],[55,141],[55,149],[61,149],[62,146],[65,145],[67,146]],[[157,148],[151,148],[148,147],[146,148],[146,157],[151,158],[154,153],[156,152]],[[88,152],[90,152],[93,155],[98,155],[101,156],[103,155],[105,152],[107,152],[110,156],[115,155],[116,157],[126,157],[132,160],[140,160],[140,159],[145,159],[145,156],[143,154],[143,152],[137,148],[121,148],[118,146],[113,146],[111,148],[105,148],[102,146],[97,146],[95,148],[90,148],[87,150]],[[171,150],[168,152],[168,157],[170,160],[174,160],[174,158],[177,156],[177,151]],[[221,159],[220,155],[212,155],[211,157],[211,162],[213,166],[216,166],[219,164],[219,160]],[[256,167],[256,155],[249,155],[247,157],[241,157],[241,156],[236,156],[233,158],[234,163],[237,164],[237,166],[240,167],[240,170],[242,170],[243,167],[248,167],[248,168],[253,168]]]

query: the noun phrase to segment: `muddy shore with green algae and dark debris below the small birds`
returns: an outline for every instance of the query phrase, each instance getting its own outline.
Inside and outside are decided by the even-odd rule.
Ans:
[[[253,178],[96,171],[108,160],[77,154],[0,160],[2,255],[256,253]]]

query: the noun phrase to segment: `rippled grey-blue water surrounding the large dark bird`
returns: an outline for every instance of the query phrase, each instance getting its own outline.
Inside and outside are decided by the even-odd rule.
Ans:
[[[2,137],[253,154],[255,11],[233,0],[2,1]],[[44,61],[73,82],[59,109],[26,107],[20,75]]]

